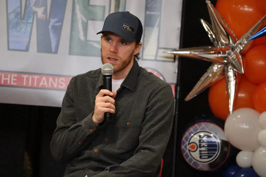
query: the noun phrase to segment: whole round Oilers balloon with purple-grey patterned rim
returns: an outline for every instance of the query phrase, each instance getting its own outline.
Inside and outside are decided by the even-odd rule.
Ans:
[[[217,171],[233,154],[225,132],[215,121],[197,121],[186,129],[181,139],[185,161],[198,171]],[[234,153],[235,154],[235,153]]]

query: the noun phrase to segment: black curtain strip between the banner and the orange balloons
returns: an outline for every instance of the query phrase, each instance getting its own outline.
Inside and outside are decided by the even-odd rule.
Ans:
[[[215,6],[216,0],[210,0]],[[210,16],[207,10],[207,5],[204,0],[193,1],[183,0],[182,11],[182,28],[181,28],[181,41],[180,48],[191,48],[198,46],[213,46],[210,41],[207,32],[203,28],[200,19],[204,19],[211,24]],[[208,92],[206,89],[198,96],[192,98],[189,101],[185,101],[185,97],[189,94],[192,88],[196,85],[201,76],[207,71],[212,64],[211,62],[201,61],[192,58],[179,57],[178,68],[178,80],[177,87],[179,92],[177,93],[179,98],[177,99],[178,108],[177,114],[177,126],[176,126],[176,146],[173,164],[173,176],[183,177],[205,177],[205,176],[223,176],[222,171],[218,174],[199,172],[190,167],[184,160],[181,154],[181,139],[184,133],[184,129],[192,123],[196,117],[205,115],[207,117],[214,117],[208,103]],[[218,120],[219,121],[219,120]],[[219,121],[223,123],[223,121]],[[173,141],[174,141],[173,140]],[[175,163],[173,163],[175,162]]]

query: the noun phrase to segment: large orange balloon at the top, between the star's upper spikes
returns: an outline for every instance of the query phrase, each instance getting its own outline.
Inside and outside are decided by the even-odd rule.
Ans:
[[[240,39],[264,15],[261,0],[217,0],[216,9]],[[264,0],[263,0],[264,1]]]

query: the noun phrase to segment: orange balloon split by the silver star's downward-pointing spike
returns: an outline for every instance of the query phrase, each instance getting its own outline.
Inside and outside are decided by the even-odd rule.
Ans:
[[[236,97],[233,110],[250,107],[254,109],[252,96],[256,85],[251,83],[244,75],[239,80],[236,89]],[[229,114],[229,103],[226,90],[225,79],[220,80],[209,90],[209,106],[213,114],[221,119],[226,120]]]

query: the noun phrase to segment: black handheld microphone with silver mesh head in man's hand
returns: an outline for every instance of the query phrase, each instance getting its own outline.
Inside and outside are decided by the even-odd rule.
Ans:
[[[102,75],[103,75],[103,89],[109,90],[112,92],[112,74],[114,72],[113,65],[110,63],[105,63],[102,65]],[[104,95],[106,96],[106,95]],[[107,95],[110,96],[110,95]],[[111,113],[104,113],[105,120],[111,120]]]

